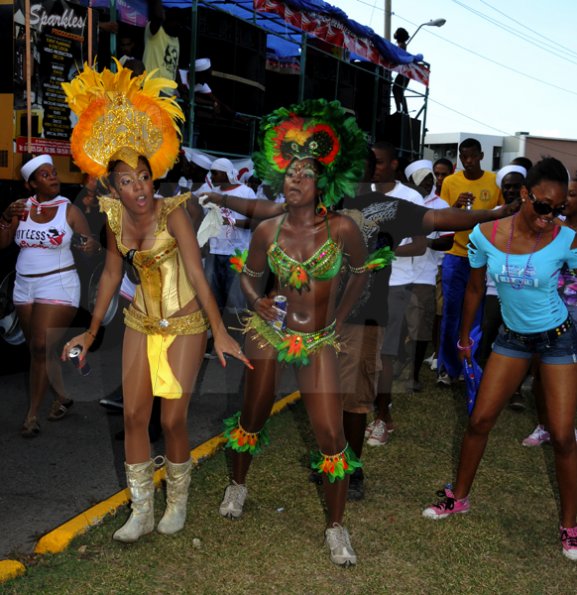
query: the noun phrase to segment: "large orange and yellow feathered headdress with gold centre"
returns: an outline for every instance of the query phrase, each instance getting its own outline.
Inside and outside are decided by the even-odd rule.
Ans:
[[[180,147],[178,121],[184,114],[174,97],[160,96],[176,83],[154,77],[156,71],[132,77],[132,70],[115,62],[118,72],[97,72],[85,64],[70,83],[62,83],[78,116],[70,139],[72,156],[82,171],[100,177],[112,159],[136,167],[143,155],[157,179],[174,165]]]

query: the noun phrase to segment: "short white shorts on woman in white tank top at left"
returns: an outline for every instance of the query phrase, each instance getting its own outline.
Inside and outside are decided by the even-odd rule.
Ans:
[[[78,308],[80,304],[78,273],[71,270],[42,277],[23,277],[16,273],[12,301],[15,306],[37,303]]]

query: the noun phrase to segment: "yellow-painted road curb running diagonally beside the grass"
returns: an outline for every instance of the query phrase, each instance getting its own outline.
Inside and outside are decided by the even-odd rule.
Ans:
[[[279,399],[273,406],[271,415],[280,413],[283,409],[292,405],[300,399],[300,393],[295,391],[282,399]],[[226,442],[224,436],[219,434],[210,440],[199,444],[192,449],[191,457],[194,462],[213,456],[216,451]],[[154,483],[160,484],[164,479],[164,467],[154,474]],[[43,535],[34,548],[35,554],[58,554],[64,551],[70,542],[88,531],[91,527],[99,525],[103,519],[114,514],[121,506],[130,500],[128,488],[117,492],[110,498],[91,506],[66,523],[59,525],[56,529]],[[0,560],[0,584],[10,579],[21,576],[26,572],[24,564],[17,560]]]

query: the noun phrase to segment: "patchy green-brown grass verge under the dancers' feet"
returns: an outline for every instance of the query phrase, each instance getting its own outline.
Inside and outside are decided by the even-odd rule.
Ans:
[[[561,555],[551,448],[523,448],[531,407],[503,412],[472,493],[472,511],[421,517],[454,474],[466,423],[462,387],[398,392],[396,430],[364,453],[366,497],[347,506],[358,554],[335,567],[323,548],[324,510],[306,466],[312,438],[299,403],[273,418],[271,446],[255,459],[239,521],[218,514],[227,483],[223,452],[194,472],[185,530],[133,545],[112,541],[127,516],[76,539],[62,554],[25,560],[1,593],[576,593],[577,564]],[[157,517],[163,495],[157,493]],[[193,546],[193,539],[200,547]]]

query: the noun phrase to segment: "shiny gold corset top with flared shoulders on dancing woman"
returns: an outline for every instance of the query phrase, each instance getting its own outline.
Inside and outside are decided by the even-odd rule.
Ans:
[[[196,296],[188,279],[176,240],[167,229],[171,211],[182,205],[190,194],[162,200],[158,217],[155,241],[152,248],[138,250],[132,260],[140,276],[140,284],[132,302],[134,308],[153,318],[170,318]],[[122,215],[124,207],[120,200],[100,197],[100,209],[108,217],[108,224],[116,237],[116,245],[122,256],[129,249],[122,243]]]

